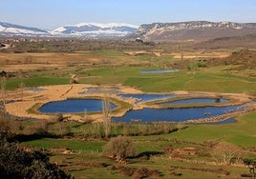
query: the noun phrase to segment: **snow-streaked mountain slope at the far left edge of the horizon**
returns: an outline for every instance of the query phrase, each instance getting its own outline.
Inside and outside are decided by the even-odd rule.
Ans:
[[[13,36],[13,35],[34,36],[34,35],[47,35],[47,34],[49,34],[47,30],[40,30],[37,28],[30,28],[30,27],[0,22],[1,36]]]

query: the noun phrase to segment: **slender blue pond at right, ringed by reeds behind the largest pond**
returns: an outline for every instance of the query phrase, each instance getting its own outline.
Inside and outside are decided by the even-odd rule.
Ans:
[[[194,103],[227,103],[228,100],[221,98],[220,100],[214,98],[191,98],[191,99],[181,99],[177,101],[169,101],[160,103],[160,105],[180,105],[180,104],[194,104]]]

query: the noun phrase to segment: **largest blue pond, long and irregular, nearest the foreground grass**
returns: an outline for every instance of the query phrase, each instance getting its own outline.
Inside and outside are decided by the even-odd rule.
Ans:
[[[200,119],[224,114],[236,110],[238,106],[204,107],[186,109],[140,109],[130,110],[122,117],[113,118],[114,122],[131,122],[139,119],[141,122],[182,122],[190,119]]]

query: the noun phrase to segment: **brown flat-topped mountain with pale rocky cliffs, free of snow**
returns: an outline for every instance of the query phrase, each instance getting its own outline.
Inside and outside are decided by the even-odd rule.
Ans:
[[[208,40],[225,36],[256,33],[256,23],[189,21],[178,23],[153,23],[139,26],[127,38],[146,41]]]

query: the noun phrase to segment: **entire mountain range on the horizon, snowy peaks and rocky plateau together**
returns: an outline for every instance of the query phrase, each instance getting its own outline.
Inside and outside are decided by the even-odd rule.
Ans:
[[[130,25],[80,23],[54,30],[41,30],[0,22],[0,36],[82,37],[141,39],[144,41],[205,41],[214,38],[256,34],[256,23],[188,21]]]

